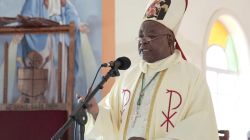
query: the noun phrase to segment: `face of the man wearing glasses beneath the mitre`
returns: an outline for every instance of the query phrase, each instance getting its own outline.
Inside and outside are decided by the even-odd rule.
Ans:
[[[138,51],[148,63],[170,56],[174,51],[173,32],[156,21],[144,21],[140,27]]]

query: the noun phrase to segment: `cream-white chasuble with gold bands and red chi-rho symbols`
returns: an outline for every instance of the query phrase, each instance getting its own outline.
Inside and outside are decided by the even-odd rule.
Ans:
[[[149,95],[142,99],[141,115],[145,116],[137,118],[134,125],[141,128],[132,128],[141,74],[156,72],[158,77],[145,93]],[[88,125],[87,129],[91,130],[87,138],[127,140],[137,134],[146,140],[219,138],[206,80],[197,68],[181,58],[178,50],[168,58],[155,63],[142,61],[128,70],[116,81],[99,108],[96,121],[92,127]],[[138,132],[132,132],[136,129]]]

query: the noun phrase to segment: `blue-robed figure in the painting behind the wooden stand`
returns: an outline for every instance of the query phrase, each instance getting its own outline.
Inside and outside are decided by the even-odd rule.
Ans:
[[[74,5],[68,0],[25,0],[20,15],[28,17],[42,17],[51,19],[59,22],[60,24],[69,24],[70,22],[75,23],[75,87],[74,93],[81,95],[86,94],[87,87],[90,85],[93,79],[94,71],[96,71],[96,61],[93,55],[89,54],[91,48],[85,47],[84,45],[90,45],[88,38],[85,33],[81,33],[80,29],[83,26],[79,15]],[[12,76],[11,83],[9,84],[9,102],[15,102],[19,96],[17,85],[17,69],[25,67],[25,58],[31,51],[36,51],[43,56],[43,61],[49,58],[49,62],[46,63],[45,68],[49,69],[49,88],[46,91],[46,97],[49,102],[55,102],[57,93],[56,87],[56,70],[57,70],[57,50],[58,42],[63,42],[63,55],[67,56],[66,48],[69,47],[69,36],[61,34],[25,34],[18,44],[17,54],[17,68],[15,74]],[[88,52],[88,54],[86,54]],[[92,52],[91,52],[92,53]],[[2,57],[3,55],[1,55]],[[90,58],[91,57],[91,58]],[[66,57],[64,57],[66,58]],[[3,60],[2,58],[0,59]],[[0,62],[1,62],[0,61]],[[86,63],[90,62],[90,66]],[[64,62],[64,60],[63,60]],[[65,60],[66,62],[66,60]],[[92,63],[91,63],[92,62]],[[63,63],[63,67],[66,68],[67,64]],[[90,71],[90,68],[92,70]],[[88,74],[87,74],[88,73]],[[93,74],[91,74],[93,73]],[[64,79],[62,83],[66,84],[66,71],[64,71]],[[15,88],[13,88],[15,87]],[[66,86],[62,86],[66,87]],[[63,93],[65,95],[66,88]],[[54,94],[54,95],[53,95]],[[100,95],[99,97],[100,98]]]

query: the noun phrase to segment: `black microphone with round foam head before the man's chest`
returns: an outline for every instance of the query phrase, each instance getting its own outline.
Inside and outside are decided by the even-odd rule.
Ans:
[[[130,65],[131,65],[131,61],[129,60],[129,58],[123,56],[123,57],[117,58],[115,61],[103,63],[101,67],[111,67],[111,68],[116,67],[119,70],[126,70],[130,67]]]

